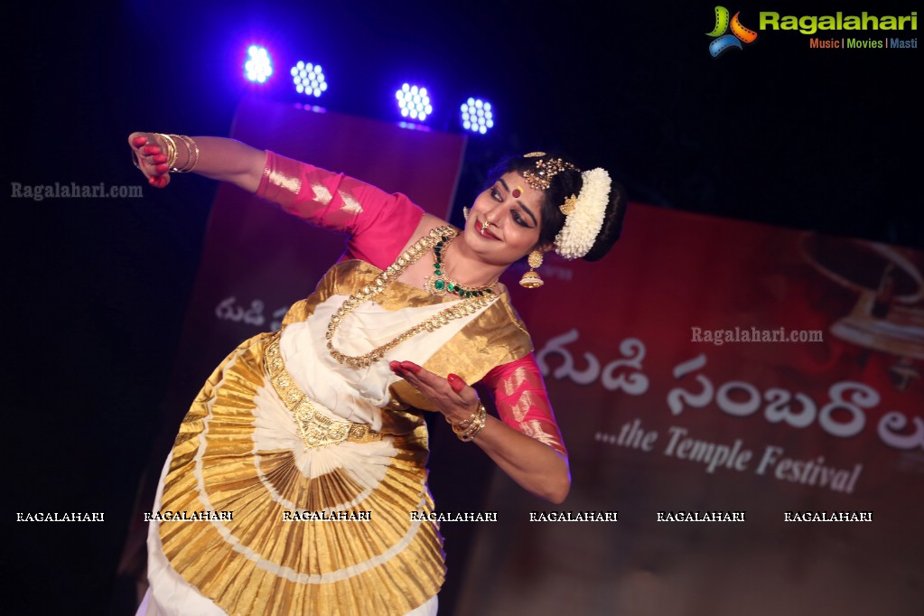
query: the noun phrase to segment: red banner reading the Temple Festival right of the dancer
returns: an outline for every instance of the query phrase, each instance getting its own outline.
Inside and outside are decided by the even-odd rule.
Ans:
[[[512,286],[573,488],[495,475],[456,613],[919,614],[922,271],[636,206],[601,263]]]

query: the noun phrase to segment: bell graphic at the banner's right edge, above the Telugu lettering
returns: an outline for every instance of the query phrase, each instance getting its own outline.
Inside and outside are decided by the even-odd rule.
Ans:
[[[850,314],[831,326],[836,337],[865,349],[897,357],[889,368],[895,388],[907,389],[921,377],[916,360],[924,359],[924,277],[918,266],[896,248],[853,240],[845,250],[837,240],[825,250],[825,239],[803,242],[808,261],[835,283],[859,293]]]

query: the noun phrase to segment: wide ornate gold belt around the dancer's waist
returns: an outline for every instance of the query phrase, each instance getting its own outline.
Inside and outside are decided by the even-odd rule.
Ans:
[[[279,352],[279,338],[282,332],[275,332],[267,344],[264,353],[266,370],[270,375],[270,382],[286,408],[292,411],[295,425],[301,441],[308,449],[316,449],[338,442],[372,442],[381,441],[382,432],[371,429],[366,424],[353,421],[338,421],[323,416],[311,404],[286,370],[286,362]]]

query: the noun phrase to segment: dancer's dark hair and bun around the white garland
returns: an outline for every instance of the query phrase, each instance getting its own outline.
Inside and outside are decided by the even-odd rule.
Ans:
[[[570,159],[562,154],[546,154],[541,157],[512,156],[505,158],[498,163],[488,174],[488,186],[492,186],[501,175],[515,172],[522,174],[524,171],[536,168],[536,162],[549,159],[560,158],[565,163]],[[575,165],[577,166],[577,165]],[[554,244],[555,236],[565,226],[565,214],[559,209],[565,199],[571,195],[579,195],[580,188],[583,185],[580,172],[575,169],[564,169],[554,175],[549,187],[542,191],[542,229],[539,236],[540,244]],[[600,233],[590,247],[588,253],[583,257],[587,261],[601,260],[603,256],[613,248],[616,240],[619,239],[623,230],[623,219],[626,217],[626,189],[615,182],[610,187],[610,199],[606,204],[606,212],[603,214],[603,224]]]

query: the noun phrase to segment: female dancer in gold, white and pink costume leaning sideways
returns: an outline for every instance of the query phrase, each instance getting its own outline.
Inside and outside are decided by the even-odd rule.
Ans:
[[[279,332],[227,356],[184,418],[155,501],[140,614],[434,614],[444,554],[423,411],[442,413],[524,489],[565,500],[565,446],[497,281],[529,255],[521,284],[540,285],[550,249],[602,258],[626,208],[605,171],[542,152],[512,158],[458,230],[403,195],[232,139],[128,142],[154,187],[194,171],[349,236],[348,259]]]

